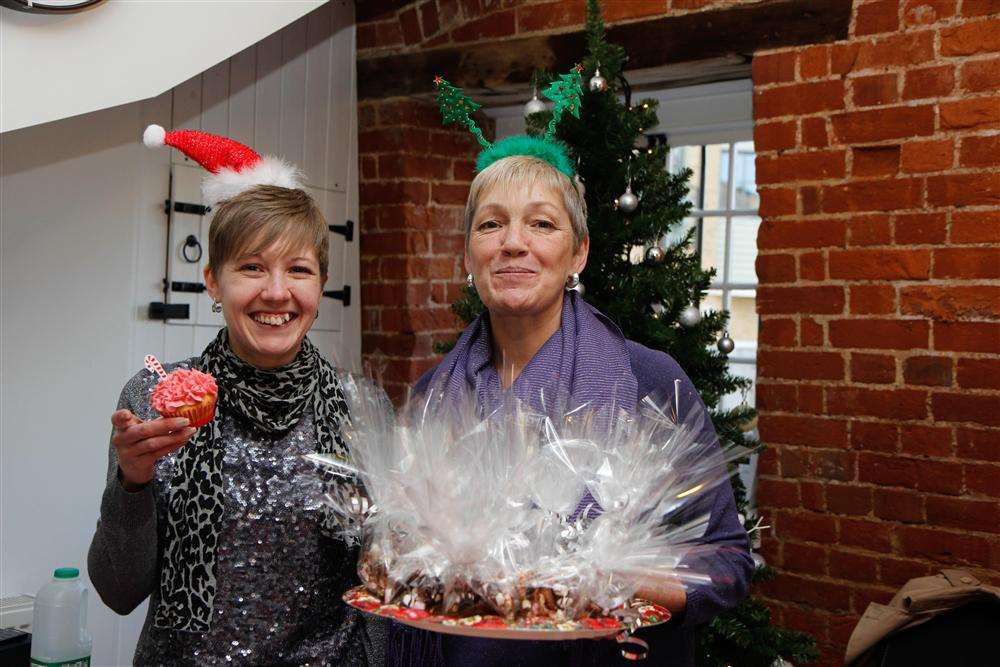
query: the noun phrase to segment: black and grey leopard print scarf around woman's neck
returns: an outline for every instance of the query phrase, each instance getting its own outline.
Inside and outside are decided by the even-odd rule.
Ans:
[[[226,329],[202,353],[197,367],[215,377],[218,408],[211,424],[201,428],[178,453],[170,498],[160,603],[154,625],[189,632],[211,627],[215,597],[215,549],[225,508],[219,434],[221,413],[236,414],[254,428],[282,434],[306,411],[313,411],[316,451],[347,456],[340,427],[347,419],[347,402],[333,365],[303,339],[295,360],[263,370],[237,357]]]

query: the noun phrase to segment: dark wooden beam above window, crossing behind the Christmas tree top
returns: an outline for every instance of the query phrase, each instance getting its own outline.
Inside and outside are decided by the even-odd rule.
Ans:
[[[852,0],[765,0],[608,28],[629,54],[627,69],[752,55],[762,49],[847,37]],[[538,67],[568,70],[586,52],[583,30],[358,60],[358,96],[430,93],[441,74],[470,94],[523,87]]]

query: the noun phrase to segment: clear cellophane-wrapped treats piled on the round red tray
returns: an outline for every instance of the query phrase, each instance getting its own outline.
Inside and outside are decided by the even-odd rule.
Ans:
[[[333,473],[327,511],[385,603],[574,619],[710,581],[701,501],[747,452],[717,441],[700,403],[566,403],[552,418],[508,398],[484,416],[432,391],[397,415],[368,380],[344,391],[350,458],[308,458]]]

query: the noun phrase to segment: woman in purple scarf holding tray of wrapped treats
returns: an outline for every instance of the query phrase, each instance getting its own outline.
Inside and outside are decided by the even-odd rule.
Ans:
[[[566,173],[544,159],[515,155],[479,172],[465,214],[465,264],[486,312],[455,348],[417,383],[446,395],[472,394],[486,412],[504,392],[544,410],[545,396],[634,409],[649,394],[672,396],[680,380],[681,413],[700,402],[680,366],[662,352],[626,339],[571,288],[587,262],[584,198]],[[715,439],[709,423],[703,437]],[[583,502],[590,502],[586,498]],[[674,613],[652,629],[657,665],[693,665],[694,630],[738,602],[752,561],[732,490],[721,485],[701,499],[710,512],[706,542],[728,547],[712,564],[713,583],[685,590],[650,581],[643,597]],[[393,664],[581,665],[621,660],[613,642],[495,642],[390,629]]]

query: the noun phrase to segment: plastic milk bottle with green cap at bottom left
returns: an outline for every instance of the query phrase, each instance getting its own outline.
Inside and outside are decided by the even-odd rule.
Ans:
[[[35,598],[31,667],[88,667],[87,588],[80,570],[61,567]]]

